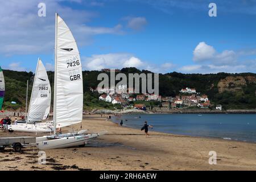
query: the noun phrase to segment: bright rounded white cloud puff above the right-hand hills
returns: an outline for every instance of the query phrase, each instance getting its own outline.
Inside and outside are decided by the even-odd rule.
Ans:
[[[200,42],[193,51],[193,60],[205,61],[213,59],[215,53],[216,51],[212,46],[208,46],[205,42]]]

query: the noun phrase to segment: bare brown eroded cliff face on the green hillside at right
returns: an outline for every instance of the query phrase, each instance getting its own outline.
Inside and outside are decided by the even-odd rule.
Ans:
[[[255,84],[256,77],[254,76],[228,76],[221,79],[218,82],[218,92],[222,93],[224,91],[228,92],[243,92],[242,87],[247,86],[247,84]]]

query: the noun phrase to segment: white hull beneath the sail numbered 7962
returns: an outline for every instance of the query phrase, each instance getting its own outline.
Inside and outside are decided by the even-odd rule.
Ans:
[[[52,129],[46,127],[39,127],[32,124],[26,125],[8,125],[8,130],[26,132],[26,133],[50,133]]]

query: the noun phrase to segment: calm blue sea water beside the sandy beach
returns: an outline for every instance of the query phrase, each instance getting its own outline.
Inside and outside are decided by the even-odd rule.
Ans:
[[[147,121],[153,131],[163,133],[256,142],[256,114],[131,114],[112,121],[121,119],[123,126],[134,129]]]

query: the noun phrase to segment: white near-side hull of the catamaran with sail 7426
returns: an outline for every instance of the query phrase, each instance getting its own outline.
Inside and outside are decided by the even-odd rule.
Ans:
[[[49,150],[57,148],[68,148],[86,144],[89,140],[95,139],[98,134],[78,135],[75,137],[63,137],[59,139],[48,139],[47,137],[37,137],[36,146],[39,150]]]

